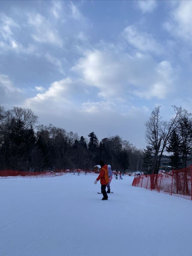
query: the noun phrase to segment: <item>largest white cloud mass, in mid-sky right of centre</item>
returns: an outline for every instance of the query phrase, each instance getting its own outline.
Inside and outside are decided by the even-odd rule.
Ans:
[[[126,101],[132,93],[140,98],[165,99],[173,86],[173,68],[167,60],[156,63],[136,53],[87,51],[73,67],[82,82],[98,89],[98,97]],[[94,106],[95,107],[95,106]]]

